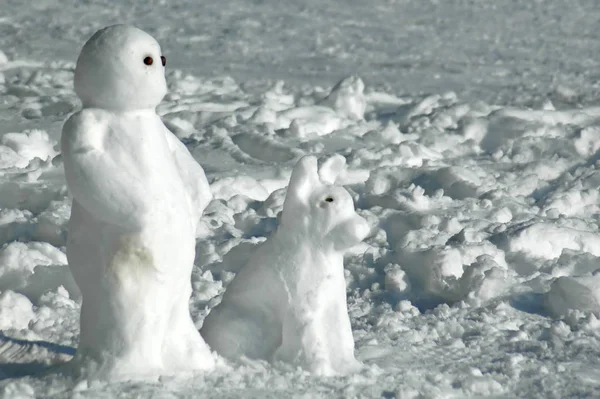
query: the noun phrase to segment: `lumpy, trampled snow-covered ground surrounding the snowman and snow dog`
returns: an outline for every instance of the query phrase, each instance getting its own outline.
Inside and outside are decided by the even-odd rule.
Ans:
[[[0,394],[600,396],[599,19],[595,0],[4,0]],[[79,106],[76,56],[116,22],[161,43],[158,112],[215,196],[198,230],[197,327],[273,231],[292,166],[337,152],[372,227],[345,259],[364,370],[222,362],[119,384],[54,373],[80,311],[56,144]]]

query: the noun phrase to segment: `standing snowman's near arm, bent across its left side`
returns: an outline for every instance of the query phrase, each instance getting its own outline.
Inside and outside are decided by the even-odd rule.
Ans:
[[[96,219],[139,227],[148,198],[144,187],[126,168],[100,148],[102,126],[93,115],[74,114],[61,137],[65,177],[73,198]]]

